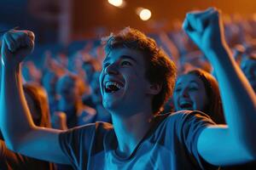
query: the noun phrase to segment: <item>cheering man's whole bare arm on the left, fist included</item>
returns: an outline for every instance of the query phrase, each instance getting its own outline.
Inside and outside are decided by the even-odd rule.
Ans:
[[[0,127],[10,150],[46,161],[67,163],[58,141],[61,131],[36,127],[26,105],[20,62],[33,48],[32,31],[9,31],[3,36]]]

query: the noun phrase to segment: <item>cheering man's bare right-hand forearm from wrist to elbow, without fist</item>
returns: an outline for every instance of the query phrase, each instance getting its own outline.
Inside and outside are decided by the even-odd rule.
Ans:
[[[236,65],[230,48],[223,46],[207,55],[216,71],[230,134],[250,149],[255,148],[256,96],[253,88]]]

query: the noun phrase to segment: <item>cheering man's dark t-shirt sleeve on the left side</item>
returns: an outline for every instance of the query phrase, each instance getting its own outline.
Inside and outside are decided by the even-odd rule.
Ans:
[[[95,124],[74,127],[59,135],[61,150],[68,157],[73,168],[87,167]]]

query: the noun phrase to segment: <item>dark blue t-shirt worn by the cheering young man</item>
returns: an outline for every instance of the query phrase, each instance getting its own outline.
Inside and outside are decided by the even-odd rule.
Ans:
[[[131,156],[116,154],[113,126],[96,122],[60,134],[60,144],[75,169],[217,169],[199,156],[197,139],[214,124],[199,111],[155,116],[151,127]]]

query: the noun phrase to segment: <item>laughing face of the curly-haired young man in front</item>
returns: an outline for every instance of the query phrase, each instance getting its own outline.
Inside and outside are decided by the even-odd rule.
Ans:
[[[103,61],[100,77],[104,107],[110,111],[137,111],[148,105],[150,86],[143,54],[129,48],[113,49]],[[127,113],[128,114],[128,113]]]

